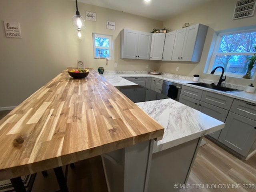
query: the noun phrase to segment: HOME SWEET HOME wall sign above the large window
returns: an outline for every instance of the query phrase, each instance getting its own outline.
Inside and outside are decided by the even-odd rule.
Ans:
[[[238,0],[234,10],[233,20],[254,15],[256,0]]]

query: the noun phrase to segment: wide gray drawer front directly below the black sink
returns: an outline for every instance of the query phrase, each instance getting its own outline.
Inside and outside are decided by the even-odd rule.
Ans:
[[[221,94],[204,91],[201,100],[203,102],[229,110],[234,99]]]

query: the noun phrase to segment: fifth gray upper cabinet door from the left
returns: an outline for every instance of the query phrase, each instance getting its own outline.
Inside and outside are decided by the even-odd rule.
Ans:
[[[174,48],[172,52],[172,61],[180,61],[181,59],[185,34],[186,34],[186,28],[176,30]]]

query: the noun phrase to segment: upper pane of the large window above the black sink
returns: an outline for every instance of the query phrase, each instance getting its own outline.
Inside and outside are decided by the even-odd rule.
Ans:
[[[256,32],[223,35],[218,52],[254,52]]]

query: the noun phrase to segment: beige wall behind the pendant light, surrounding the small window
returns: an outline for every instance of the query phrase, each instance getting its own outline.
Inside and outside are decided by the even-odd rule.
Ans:
[[[156,62],[121,60],[120,35],[123,28],[150,32],[162,22],[106,8],[78,4],[80,14],[96,12],[97,22],[86,21],[86,38],[77,41],[71,18],[75,2],[71,0],[0,1],[0,108],[16,106],[68,66],[84,60],[86,67],[106,70],[148,70],[159,68]],[[116,30],[106,29],[106,20],[116,22]],[[22,38],[6,38],[3,21],[20,22]],[[93,58],[92,32],[114,38],[114,60]],[[118,64],[114,68],[114,63]]]

